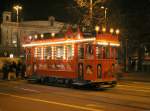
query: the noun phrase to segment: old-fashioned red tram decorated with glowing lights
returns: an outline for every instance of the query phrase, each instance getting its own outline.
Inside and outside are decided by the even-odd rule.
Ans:
[[[53,35],[54,36],[54,35]],[[99,87],[115,85],[115,64],[120,46],[115,34],[83,37],[66,33],[64,38],[32,39],[23,44],[26,51],[27,75],[41,80]]]

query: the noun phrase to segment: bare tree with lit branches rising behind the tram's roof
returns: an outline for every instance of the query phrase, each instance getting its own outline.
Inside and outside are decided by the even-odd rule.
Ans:
[[[106,0],[75,0],[77,7],[83,10],[80,23],[86,26],[100,25],[104,22],[104,11],[101,6]]]

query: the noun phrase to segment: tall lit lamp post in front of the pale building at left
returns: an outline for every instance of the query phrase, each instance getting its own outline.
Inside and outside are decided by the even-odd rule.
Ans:
[[[22,7],[19,5],[16,5],[13,7],[13,9],[16,11],[17,14],[17,51],[18,51],[18,56],[20,56],[20,39],[19,39],[19,34],[18,34],[18,23],[19,23],[19,10],[22,10]]]

